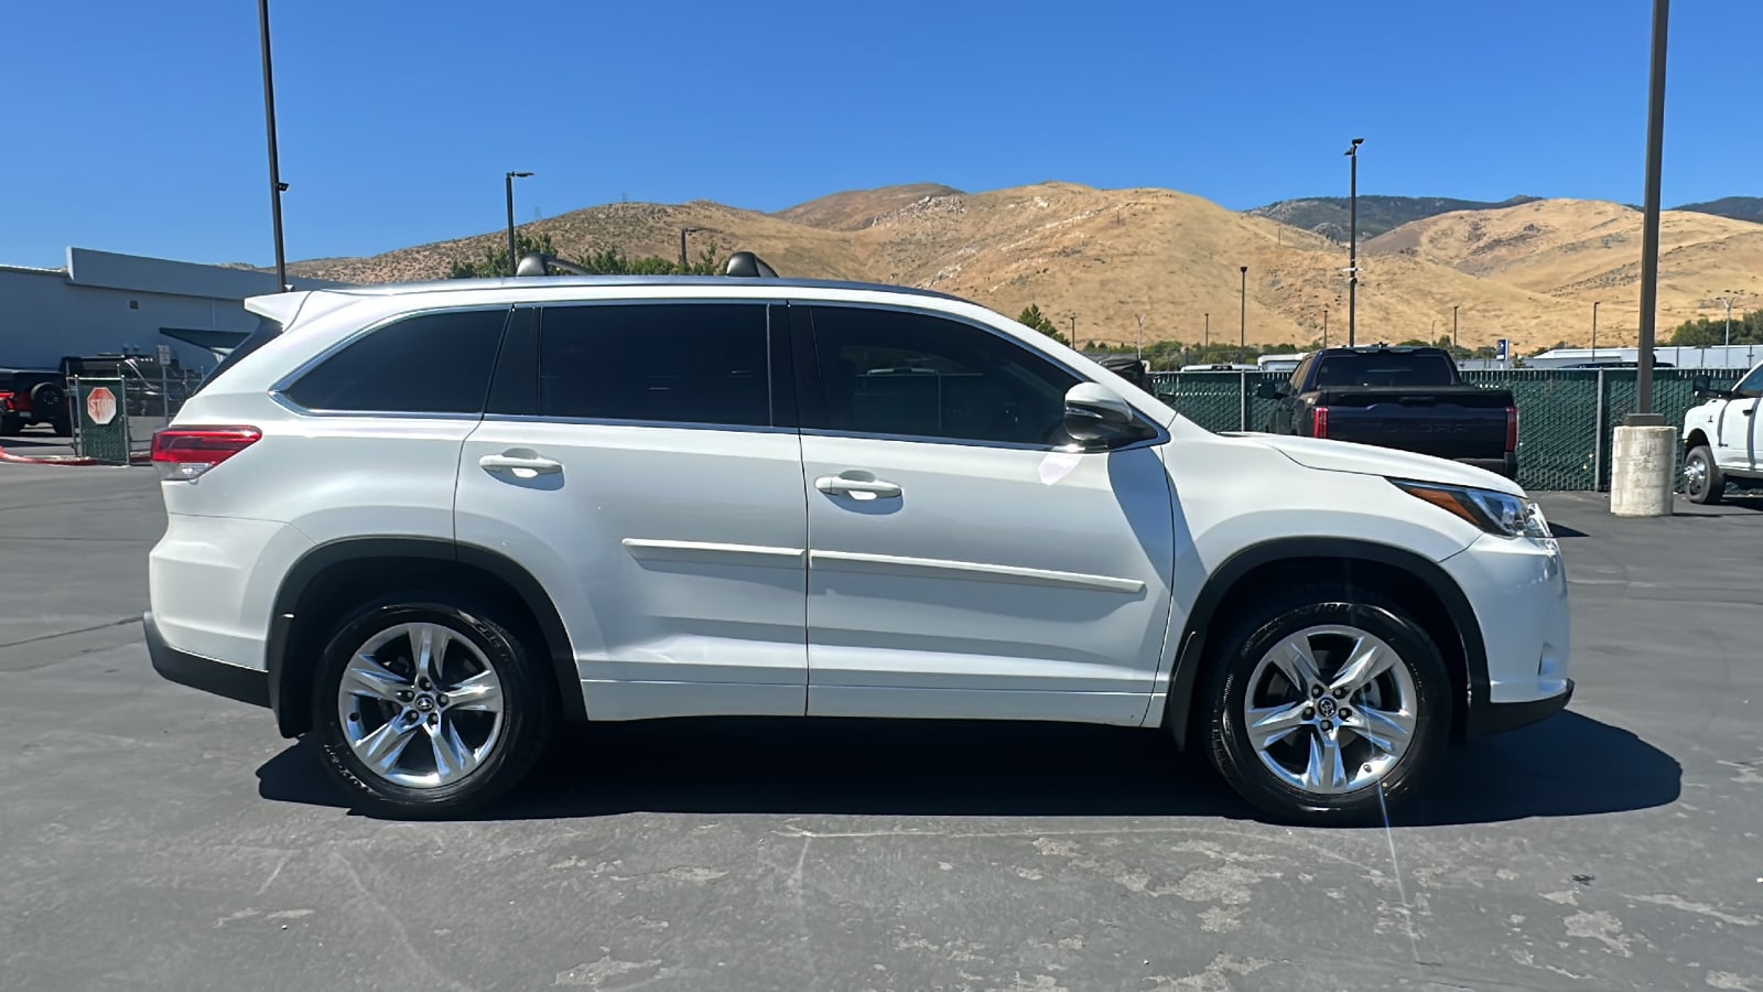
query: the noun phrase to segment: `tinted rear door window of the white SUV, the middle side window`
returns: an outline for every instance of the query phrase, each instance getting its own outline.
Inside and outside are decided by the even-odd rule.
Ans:
[[[765,304],[547,307],[539,413],[770,425]]]

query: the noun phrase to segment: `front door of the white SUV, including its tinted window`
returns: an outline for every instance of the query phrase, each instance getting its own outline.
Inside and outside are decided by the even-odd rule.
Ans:
[[[809,323],[809,713],[1141,722],[1174,561],[1158,448],[1068,450],[1077,376],[989,328]]]

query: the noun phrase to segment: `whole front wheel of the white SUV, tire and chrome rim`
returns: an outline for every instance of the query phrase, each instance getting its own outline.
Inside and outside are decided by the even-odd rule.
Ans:
[[[1317,586],[1257,605],[1215,658],[1213,764],[1276,817],[1377,821],[1444,741],[1439,648],[1372,591]]]

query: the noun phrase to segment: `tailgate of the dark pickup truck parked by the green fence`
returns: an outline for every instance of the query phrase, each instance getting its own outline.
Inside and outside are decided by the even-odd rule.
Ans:
[[[1507,450],[1507,390],[1476,387],[1356,387],[1322,390],[1328,438],[1444,459],[1488,459]]]

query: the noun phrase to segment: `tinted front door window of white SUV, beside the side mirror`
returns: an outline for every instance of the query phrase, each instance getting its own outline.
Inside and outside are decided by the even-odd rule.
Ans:
[[[815,307],[832,431],[959,441],[1065,443],[1077,376],[987,330],[943,318]]]

